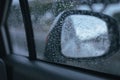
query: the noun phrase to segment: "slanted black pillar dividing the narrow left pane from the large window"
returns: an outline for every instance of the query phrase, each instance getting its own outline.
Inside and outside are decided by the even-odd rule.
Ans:
[[[28,0],[19,0],[19,3],[20,3],[22,16],[23,16],[25,32],[26,32],[29,59],[34,60],[36,59],[36,48],[35,48],[36,46],[35,46],[33,26],[32,26],[32,21],[30,17]]]

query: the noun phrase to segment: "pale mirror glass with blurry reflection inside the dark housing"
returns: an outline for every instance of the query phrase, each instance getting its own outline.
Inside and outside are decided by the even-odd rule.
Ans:
[[[107,24],[89,15],[68,16],[62,26],[62,54],[70,58],[98,57],[109,49]]]

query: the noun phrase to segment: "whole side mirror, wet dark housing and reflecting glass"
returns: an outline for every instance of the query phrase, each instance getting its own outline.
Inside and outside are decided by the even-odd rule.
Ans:
[[[119,49],[118,25],[111,17],[80,10],[62,12],[55,20],[45,48],[49,61],[100,59]]]

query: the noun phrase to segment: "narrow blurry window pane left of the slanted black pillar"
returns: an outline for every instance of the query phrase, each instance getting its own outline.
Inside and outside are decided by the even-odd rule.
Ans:
[[[7,24],[13,53],[28,56],[24,23],[18,0],[12,2]]]

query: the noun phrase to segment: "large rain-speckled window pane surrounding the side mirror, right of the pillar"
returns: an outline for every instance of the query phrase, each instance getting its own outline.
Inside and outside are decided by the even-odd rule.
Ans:
[[[92,2],[91,2],[92,1]],[[96,3],[94,3],[96,1]],[[44,59],[47,35],[55,18],[64,10],[89,10],[114,17],[120,22],[120,2],[118,0],[29,0],[34,29],[37,57]],[[113,3],[112,3],[113,1]],[[107,5],[106,5],[107,4]],[[98,38],[99,41],[99,38]],[[120,54],[99,61],[67,61],[61,64],[82,67],[104,73],[120,75]],[[57,57],[59,58],[59,57]]]

